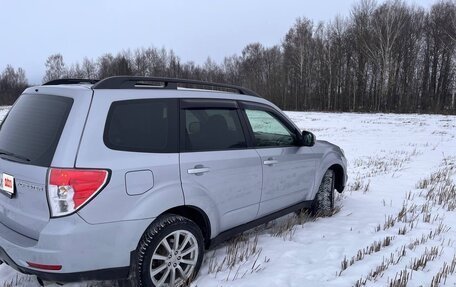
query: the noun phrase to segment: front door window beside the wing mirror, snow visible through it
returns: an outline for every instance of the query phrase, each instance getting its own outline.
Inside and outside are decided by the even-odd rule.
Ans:
[[[291,146],[295,135],[272,114],[261,110],[245,110],[255,136],[255,146]]]

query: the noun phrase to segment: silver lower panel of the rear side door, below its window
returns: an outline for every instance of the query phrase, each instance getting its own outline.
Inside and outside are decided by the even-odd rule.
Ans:
[[[260,158],[254,150],[185,152],[180,155],[180,164],[185,203],[207,210],[210,207],[199,203],[204,194],[215,204],[220,225],[213,226],[212,230],[226,230],[256,218],[262,171]],[[209,171],[188,173],[198,166]]]

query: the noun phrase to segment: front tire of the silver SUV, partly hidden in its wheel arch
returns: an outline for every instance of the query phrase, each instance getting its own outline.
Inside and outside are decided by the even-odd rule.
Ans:
[[[328,169],[321,180],[310,213],[314,216],[331,216],[334,212],[334,171]]]

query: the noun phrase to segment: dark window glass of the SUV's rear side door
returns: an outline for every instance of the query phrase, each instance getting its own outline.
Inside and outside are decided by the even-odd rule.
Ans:
[[[183,119],[186,151],[247,147],[235,109],[184,109]]]

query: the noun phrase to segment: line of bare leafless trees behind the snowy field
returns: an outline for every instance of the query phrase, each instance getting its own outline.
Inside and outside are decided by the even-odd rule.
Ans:
[[[327,23],[299,18],[280,44],[252,43],[221,63],[183,62],[173,50],[150,47],[70,66],[55,54],[45,65],[44,82],[179,77],[242,85],[287,110],[455,114],[456,2],[425,9],[400,0],[361,0],[349,17]],[[14,78],[9,74],[21,80],[16,88],[24,84],[23,71],[11,69],[1,76],[2,95],[4,77]]]

